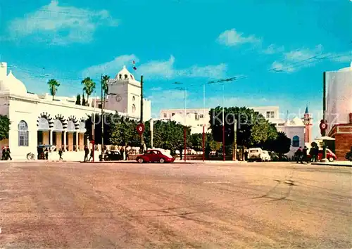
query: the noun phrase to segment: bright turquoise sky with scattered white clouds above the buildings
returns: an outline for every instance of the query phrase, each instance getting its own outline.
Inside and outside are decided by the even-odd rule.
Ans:
[[[352,60],[351,13],[350,0],[0,1],[0,60],[28,91],[55,78],[66,96],[126,65],[144,75],[153,117],[184,108],[184,89],[187,108],[203,108],[204,85],[206,108],[279,106],[284,118],[308,105],[318,136],[322,72]]]

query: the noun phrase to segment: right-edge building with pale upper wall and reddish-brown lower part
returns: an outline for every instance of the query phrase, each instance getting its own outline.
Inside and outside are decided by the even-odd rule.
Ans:
[[[335,139],[338,160],[352,147],[352,63],[349,68],[326,72],[327,135]]]

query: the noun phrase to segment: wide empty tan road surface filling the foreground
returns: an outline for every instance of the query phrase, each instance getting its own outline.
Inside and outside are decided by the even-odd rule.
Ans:
[[[0,248],[352,248],[352,168],[0,163]]]

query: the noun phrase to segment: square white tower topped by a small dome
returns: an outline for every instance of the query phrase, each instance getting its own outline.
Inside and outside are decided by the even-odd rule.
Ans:
[[[141,108],[141,83],[123,66],[114,79],[108,81],[106,109],[139,117]]]

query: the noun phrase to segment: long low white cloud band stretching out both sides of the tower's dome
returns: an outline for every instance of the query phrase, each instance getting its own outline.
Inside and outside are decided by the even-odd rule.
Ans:
[[[115,76],[123,65],[132,65],[132,60],[136,63],[139,59],[134,55],[118,56],[114,60],[100,65],[94,65],[83,70],[82,74],[85,76],[94,77],[101,73]],[[225,77],[227,65],[221,63],[219,65],[194,65],[190,68],[177,69],[175,68],[175,57],[170,56],[168,60],[151,60],[142,65],[137,64],[137,72],[148,77],[148,79],[172,79],[175,77],[205,77],[205,78],[219,78]]]

